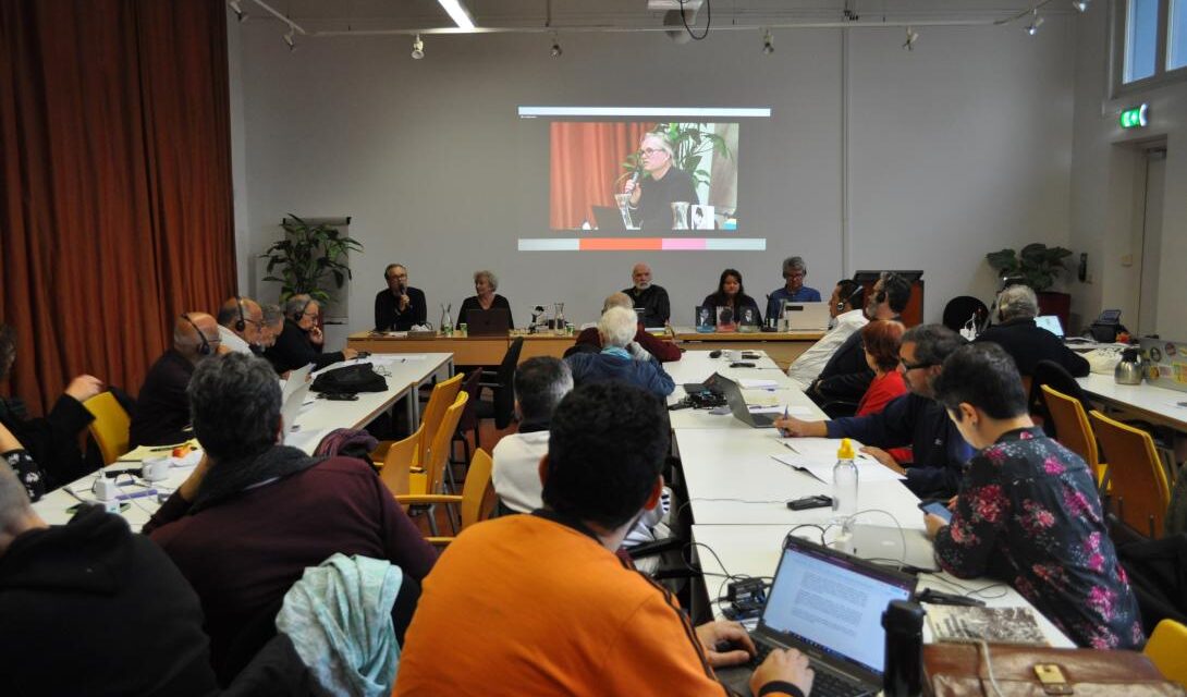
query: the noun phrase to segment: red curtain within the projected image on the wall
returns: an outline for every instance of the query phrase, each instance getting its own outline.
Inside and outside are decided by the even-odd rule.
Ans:
[[[594,205],[615,205],[622,163],[655,123],[552,123],[548,226],[554,230],[594,224]]]

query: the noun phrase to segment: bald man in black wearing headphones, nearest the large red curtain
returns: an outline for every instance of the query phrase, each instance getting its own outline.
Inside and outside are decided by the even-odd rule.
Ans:
[[[221,351],[218,323],[205,312],[186,312],[173,322],[173,347],[148,368],[132,410],[128,445],[169,445],[191,437],[190,386],[193,367]]]

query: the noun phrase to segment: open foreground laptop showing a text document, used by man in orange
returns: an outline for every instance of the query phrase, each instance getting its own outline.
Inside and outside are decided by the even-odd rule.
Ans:
[[[718,679],[751,695],[754,667],[772,648],[796,648],[815,670],[812,693],[877,695],[886,663],[882,613],[909,600],[914,576],[788,536],[767,604],[750,636],[751,666],[723,669]]]

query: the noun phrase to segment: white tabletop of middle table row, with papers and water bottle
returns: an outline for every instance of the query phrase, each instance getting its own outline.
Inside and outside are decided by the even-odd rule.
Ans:
[[[735,356],[712,359],[709,351],[687,351],[680,361],[665,363],[677,382],[668,404],[684,397],[684,384],[703,382],[713,373],[735,381],[751,380],[763,387],[743,388],[747,403],[755,401],[767,411],[787,411],[807,420],[825,419],[825,414],[779,369],[763,351],[755,360],[742,359],[753,368],[731,368]],[[832,464],[839,441],[827,438],[782,438],[774,429],[754,429],[726,408],[724,413],[681,408],[669,412],[673,450],[681,462],[681,475],[694,543],[692,557],[704,576],[696,585],[696,607],[721,615],[716,601],[724,589],[724,576],[770,577],[779,564],[785,536],[795,534],[832,544],[839,526],[831,508],[792,511],[787,501],[813,494],[831,494]],[[855,446],[858,444],[855,444]],[[931,547],[926,539],[919,499],[900,482],[900,476],[872,458],[858,455],[858,481],[855,522],[886,528],[890,543],[902,539],[925,555]],[[806,526],[799,527],[796,526]],[[900,538],[901,531],[901,538]],[[710,550],[712,553],[710,553]],[[906,556],[902,544],[857,553],[863,557],[896,558]],[[721,589],[718,587],[722,587]],[[1026,598],[1007,584],[979,578],[961,581],[947,574],[920,575],[920,587],[950,594],[971,595],[995,607],[1030,607]],[[1034,613],[1052,646],[1073,644],[1049,620]],[[925,639],[931,638],[925,627]]]

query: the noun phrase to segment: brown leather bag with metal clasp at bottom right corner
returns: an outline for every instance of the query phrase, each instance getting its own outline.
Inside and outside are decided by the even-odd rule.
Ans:
[[[997,689],[990,674],[996,678]],[[950,642],[923,647],[923,695],[995,697],[998,693],[1002,697],[1187,695],[1181,685],[1163,678],[1150,659],[1135,651]]]

